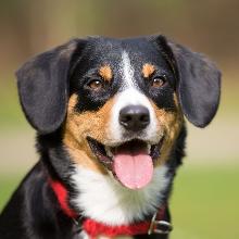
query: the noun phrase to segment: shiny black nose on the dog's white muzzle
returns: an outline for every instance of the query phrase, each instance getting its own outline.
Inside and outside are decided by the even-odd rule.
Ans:
[[[128,105],[120,112],[120,124],[126,129],[138,131],[150,123],[149,110],[142,105]]]

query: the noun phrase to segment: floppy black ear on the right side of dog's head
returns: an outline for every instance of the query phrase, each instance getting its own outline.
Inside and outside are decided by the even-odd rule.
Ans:
[[[156,37],[178,78],[176,92],[186,117],[198,127],[205,127],[214,117],[221,95],[221,72],[203,54]]]

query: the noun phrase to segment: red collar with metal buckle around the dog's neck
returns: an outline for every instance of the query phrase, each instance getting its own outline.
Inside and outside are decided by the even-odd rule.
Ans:
[[[68,192],[66,188],[56,180],[49,180],[53,189],[62,211],[74,221],[77,219],[78,214],[68,205]],[[151,221],[135,223],[130,225],[109,226],[90,218],[83,221],[84,230],[90,236],[91,239],[97,238],[99,235],[108,237],[116,236],[135,236],[143,234],[168,234],[172,226],[165,221],[166,205],[162,206]]]

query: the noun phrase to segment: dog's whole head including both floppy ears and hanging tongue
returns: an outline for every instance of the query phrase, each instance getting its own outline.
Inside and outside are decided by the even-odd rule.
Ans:
[[[202,54],[164,36],[75,39],[17,72],[21,103],[39,134],[62,130],[74,163],[147,185],[184,125],[206,126],[221,74]]]

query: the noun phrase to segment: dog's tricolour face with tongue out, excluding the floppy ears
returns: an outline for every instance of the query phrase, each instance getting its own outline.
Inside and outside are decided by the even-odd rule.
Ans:
[[[174,70],[146,39],[93,39],[73,65],[64,127],[73,159],[144,186],[183,123]]]

